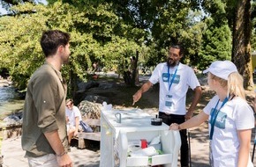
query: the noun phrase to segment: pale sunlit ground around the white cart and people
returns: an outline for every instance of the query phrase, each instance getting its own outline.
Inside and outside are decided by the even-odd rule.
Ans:
[[[190,130],[192,167],[209,167],[208,164],[208,132],[207,123],[202,124]],[[254,132],[252,134],[254,139]],[[88,142],[86,149],[77,149],[76,144],[71,148],[69,155],[72,157],[74,167],[98,167],[100,164],[100,143]],[[252,140],[253,148],[253,140]],[[251,153],[252,153],[251,148]],[[2,146],[2,155],[4,155],[3,167],[26,167],[27,161],[24,158],[25,152],[21,149],[20,137],[4,140]],[[251,154],[252,155],[252,154]],[[254,160],[254,166],[256,161]]]

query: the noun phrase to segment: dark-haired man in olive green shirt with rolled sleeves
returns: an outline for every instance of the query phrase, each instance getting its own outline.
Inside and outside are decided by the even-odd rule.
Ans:
[[[30,78],[23,112],[21,142],[29,166],[72,166],[67,154],[66,84],[60,72],[69,61],[69,40],[69,33],[57,30],[41,36],[45,63]]]

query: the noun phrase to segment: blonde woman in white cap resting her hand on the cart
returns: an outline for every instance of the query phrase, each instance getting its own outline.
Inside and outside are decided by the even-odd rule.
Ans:
[[[251,134],[254,127],[252,108],[245,100],[243,77],[230,61],[216,61],[203,71],[207,83],[216,92],[203,112],[172,130],[200,126],[208,120],[210,164],[213,167],[252,167]]]

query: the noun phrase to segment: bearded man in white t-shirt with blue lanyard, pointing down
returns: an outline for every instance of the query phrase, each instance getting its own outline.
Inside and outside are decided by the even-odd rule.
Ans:
[[[169,47],[167,62],[162,62],[156,66],[152,76],[146,84],[143,84],[139,91],[133,95],[133,105],[141,98],[142,93],[146,92],[159,83],[159,118],[170,125],[172,123],[183,123],[192,118],[192,114],[201,96],[200,83],[192,68],[182,64],[180,59],[183,57],[181,46]],[[188,88],[192,88],[194,96],[192,104],[186,111],[186,93]],[[181,167],[188,166],[189,153],[186,129],[180,131],[181,136]]]

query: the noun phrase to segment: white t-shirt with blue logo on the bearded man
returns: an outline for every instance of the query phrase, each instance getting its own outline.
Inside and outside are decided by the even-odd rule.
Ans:
[[[176,69],[177,73],[175,75]],[[170,86],[173,76],[175,78]],[[178,67],[169,68],[169,72],[166,62],[158,64],[149,81],[152,84],[160,84],[159,111],[177,115],[184,115],[186,113],[185,98],[188,88],[190,87],[194,90],[197,86],[200,86],[193,69],[181,62],[179,62]]]

